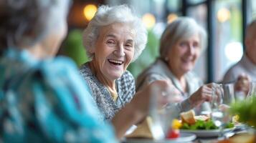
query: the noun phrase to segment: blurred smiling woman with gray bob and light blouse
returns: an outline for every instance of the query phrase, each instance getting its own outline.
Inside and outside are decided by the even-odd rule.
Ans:
[[[136,89],[139,91],[158,79],[171,79],[184,98],[176,105],[179,112],[194,107],[198,107],[195,109],[196,114],[209,112],[212,84],[203,85],[192,71],[206,41],[205,30],[194,19],[179,17],[173,21],[161,36],[160,57],[138,76]]]

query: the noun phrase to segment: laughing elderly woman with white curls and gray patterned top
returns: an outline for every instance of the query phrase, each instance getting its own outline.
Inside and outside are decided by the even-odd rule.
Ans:
[[[146,46],[147,31],[128,6],[100,6],[83,34],[87,55],[80,67],[103,120],[110,121],[133,99],[135,82],[127,71]]]

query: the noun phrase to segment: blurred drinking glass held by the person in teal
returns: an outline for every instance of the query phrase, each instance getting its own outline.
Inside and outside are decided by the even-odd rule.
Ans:
[[[159,89],[153,89],[153,92],[159,93],[157,90]],[[181,95],[174,92],[174,90],[174,87],[169,88],[168,91],[162,91],[161,95],[151,97],[149,114],[153,139],[165,139],[173,119],[179,116],[176,102],[181,100]]]

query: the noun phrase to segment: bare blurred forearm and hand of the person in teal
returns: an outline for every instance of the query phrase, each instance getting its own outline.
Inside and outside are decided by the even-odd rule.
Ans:
[[[140,122],[141,119],[148,115],[151,96],[161,96],[162,92],[169,93],[170,88],[172,87],[169,82],[158,80],[152,82],[140,92],[137,92],[131,102],[126,104],[112,119],[112,124],[118,139],[123,137],[129,127]],[[161,105],[168,103],[168,101],[163,102],[163,100],[159,100],[159,102],[161,102]]]

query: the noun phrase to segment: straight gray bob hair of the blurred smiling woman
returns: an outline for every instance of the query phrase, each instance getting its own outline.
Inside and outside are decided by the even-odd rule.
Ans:
[[[160,41],[160,56],[164,59],[177,41],[199,34],[199,46],[202,50],[207,46],[207,33],[199,24],[189,17],[179,17],[163,31]]]

